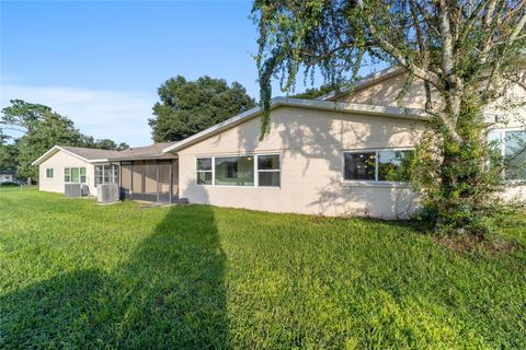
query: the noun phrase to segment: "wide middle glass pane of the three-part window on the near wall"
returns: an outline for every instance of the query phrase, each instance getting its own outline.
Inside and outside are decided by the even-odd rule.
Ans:
[[[254,186],[254,158],[216,158],[216,185]]]

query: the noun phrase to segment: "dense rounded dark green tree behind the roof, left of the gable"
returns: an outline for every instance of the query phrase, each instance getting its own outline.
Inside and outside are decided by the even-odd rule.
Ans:
[[[148,120],[156,142],[182,140],[255,105],[240,83],[229,86],[206,75],[196,81],[171,78],[159,88],[159,97],[156,117]]]

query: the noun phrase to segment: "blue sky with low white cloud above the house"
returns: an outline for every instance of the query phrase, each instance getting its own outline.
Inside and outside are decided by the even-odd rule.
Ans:
[[[41,103],[85,135],[149,144],[157,89],[171,77],[238,81],[259,96],[251,7],[0,0],[0,107],[13,98]],[[301,82],[297,91],[307,88]]]

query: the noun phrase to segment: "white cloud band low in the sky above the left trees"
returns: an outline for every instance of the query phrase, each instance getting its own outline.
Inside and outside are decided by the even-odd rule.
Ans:
[[[15,98],[52,107],[95,139],[107,138],[134,147],[152,142],[148,118],[157,101],[155,93],[2,84],[0,106],[3,108]]]

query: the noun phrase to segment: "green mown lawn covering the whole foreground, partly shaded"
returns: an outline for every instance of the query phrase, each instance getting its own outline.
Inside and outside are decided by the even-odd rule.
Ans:
[[[507,250],[411,223],[0,189],[0,348],[526,349]]]

